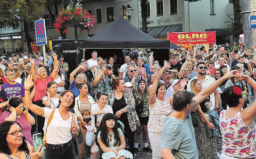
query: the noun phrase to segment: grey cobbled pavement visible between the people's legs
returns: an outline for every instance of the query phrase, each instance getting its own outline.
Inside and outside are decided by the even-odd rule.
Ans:
[[[251,97],[250,103],[254,102],[254,97]],[[255,119],[256,122],[256,119]],[[220,134],[220,131],[218,131],[218,134]],[[148,140],[149,141],[149,140]],[[218,136],[218,141],[220,141],[219,144],[217,144],[217,151],[219,153],[221,153],[221,149],[222,149],[222,138]],[[150,141],[149,141],[150,142]],[[141,147],[138,147],[138,153],[137,153],[137,157],[136,159],[152,159],[152,153],[150,152],[142,152],[143,147],[144,147],[144,142],[143,142],[143,133],[141,131],[140,133],[140,140],[139,143],[141,145]],[[151,148],[151,146],[149,146]],[[99,155],[97,156],[97,158],[99,158]],[[45,159],[45,154],[43,155],[42,159]],[[77,157],[78,159],[78,157]],[[87,158],[90,159],[90,158]],[[219,158],[218,158],[219,159]]]

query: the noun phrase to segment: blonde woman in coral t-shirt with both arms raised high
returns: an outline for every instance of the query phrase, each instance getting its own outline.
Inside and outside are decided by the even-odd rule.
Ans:
[[[53,59],[54,59],[54,63],[53,63],[53,72],[49,75],[49,77],[47,76],[47,71],[44,67],[40,67],[38,68],[36,74],[35,74],[35,59],[30,57],[29,61],[31,62],[31,75],[33,76],[33,81],[35,82],[35,97],[34,100],[37,101],[36,105],[40,106],[40,107],[45,107],[43,105],[43,97],[46,96],[46,92],[47,92],[47,84],[49,83],[49,81],[53,81],[54,77],[57,73],[57,54],[53,53]],[[38,124],[38,133],[42,133],[42,137],[44,136],[44,122],[45,122],[45,117],[42,116],[37,116],[37,124]]]

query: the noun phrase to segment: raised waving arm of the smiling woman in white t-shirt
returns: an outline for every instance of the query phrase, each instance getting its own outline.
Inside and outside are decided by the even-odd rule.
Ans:
[[[35,104],[32,104],[32,101],[30,98],[30,88],[33,85],[35,85],[35,83],[32,81],[32,75],[29,74],[28,77],[25,78],[25,82],[24,82],[26,106],[36,115],[43,116],[45,112],[44,108],[37,106]]]

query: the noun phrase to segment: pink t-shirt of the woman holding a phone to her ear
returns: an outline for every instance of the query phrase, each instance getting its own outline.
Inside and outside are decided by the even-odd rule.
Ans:
[[[11,115],[10,112],[4,111],[0,116],[0,123],[2,124],[6,117],[9,117]],[[33,146],[33,141],[31,137],[31,125],[29,124],[25,114],[21,114],[21,116],[18,118],[16,117],[16,122],[18,122],[21,126],[21,129],[24,130],[23,136],[26,137],[26,140]]]

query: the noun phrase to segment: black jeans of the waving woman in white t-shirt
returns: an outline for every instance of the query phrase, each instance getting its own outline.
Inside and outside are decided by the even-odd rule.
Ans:
[[[46,159],[75,159],[75,148],[73,142],[70,140],[65,144],[52,145],[46,144],[45,149]]]

